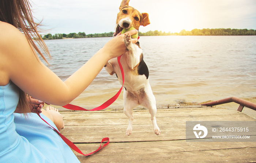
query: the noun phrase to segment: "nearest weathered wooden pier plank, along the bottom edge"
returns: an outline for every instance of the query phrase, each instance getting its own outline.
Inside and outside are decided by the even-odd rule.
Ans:
[[[98,148],[98,144],[77,144],[88,153]],[[103,163],[151,163],[151,162],[255,162],[256,143],[251,142],[186,142],[157,141],[134,143],[110,143],[101,151],[85,157],[78,153],[84,162]]]

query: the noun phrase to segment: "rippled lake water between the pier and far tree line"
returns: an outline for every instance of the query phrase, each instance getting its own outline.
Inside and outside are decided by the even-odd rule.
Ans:
[[[47,40],[52,55],[49,68],[65,80],[109,39]],[[256,102],[256,36],[144,36],[139,42],[157,105],[201,103],[231,96]],[[103,68],[72,104],[99,106],[120,87],[116,76]],[[110,107],[122,104],[121,93]]]

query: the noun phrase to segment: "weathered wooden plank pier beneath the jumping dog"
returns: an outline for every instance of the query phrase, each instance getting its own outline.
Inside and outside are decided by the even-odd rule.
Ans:
[[[158,106],[161,135],[154,134],[147,109],[133,110],[133,131],[125,135],[128,118],[123,110],[61,111],[65,128],[60,132],[83,153],[110,143],[97,153],[83,156],[81,163],[193,163],[256,162],[256,142],[188,142],[186,121],[256,121],[236,110],[206,106]]]

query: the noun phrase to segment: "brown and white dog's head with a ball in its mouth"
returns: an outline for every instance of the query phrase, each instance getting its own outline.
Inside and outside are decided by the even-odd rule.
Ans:
[[[120,33],[124,28],[128,29],[134,27],[139,30],[140,26],[147,26],[150,24],[147,13],[142,13],[135,8],[129,6],[130,0],[123,0],[119,7],[120,12],[117,14],[116,18],[116,32],[115,35]]]

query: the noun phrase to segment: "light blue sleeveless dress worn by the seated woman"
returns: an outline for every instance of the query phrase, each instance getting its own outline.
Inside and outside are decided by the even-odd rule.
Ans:
[[[68,145],[37,114],[25,117],[13,113],[18,101],[14,83],[0,86],[0,163],[79,163]]]

